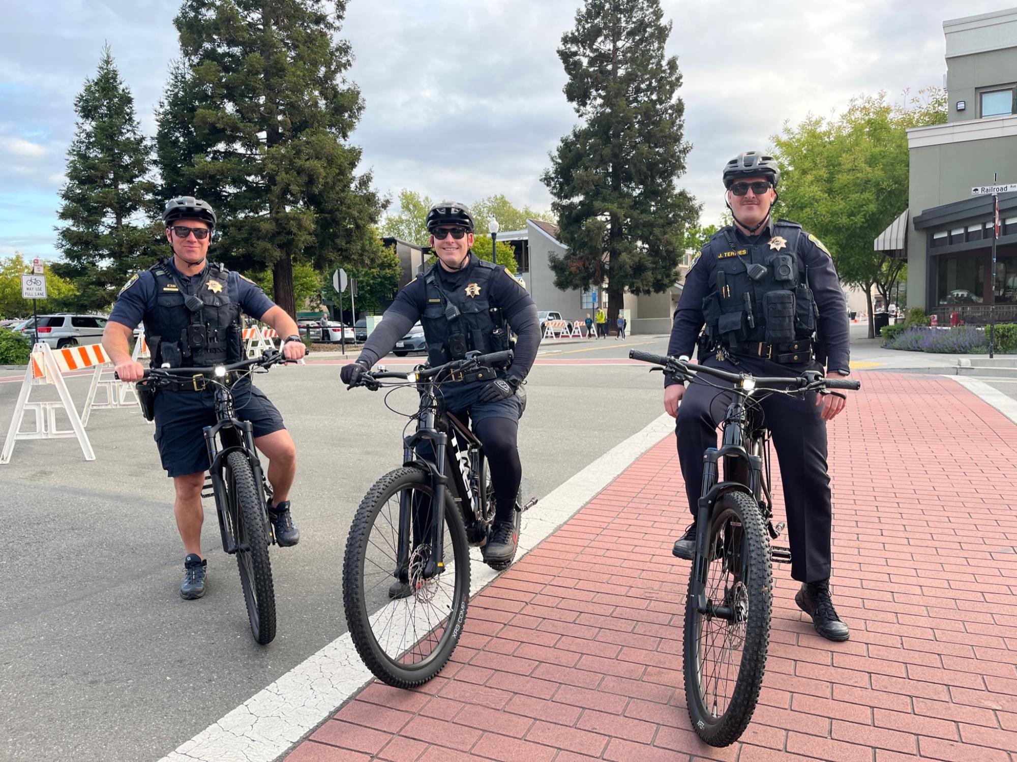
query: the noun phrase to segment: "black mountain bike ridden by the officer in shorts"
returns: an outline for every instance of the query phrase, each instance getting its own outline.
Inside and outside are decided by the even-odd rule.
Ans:
[[[265,504],[265,497],[272,498],[272,487],[254,449],[252,425],[236,418],[233,389],[254,370],[285,362],[282,353],[273,350],[231,365],[151,368],[138,382],[139,391],[145,383],[157,389],[187,386],[199,392],[211,386],[214,390],[216,423],[202,429],[208,472],[201,497],[216,499],[223,550],[237,557],[251,634],[261,645],[276,637],[276,592],[268,561],[268,546],[276,543],[276,536]]]

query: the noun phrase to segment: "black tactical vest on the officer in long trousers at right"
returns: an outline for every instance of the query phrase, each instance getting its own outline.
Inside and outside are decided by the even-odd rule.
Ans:
[[[758,244],[738,244],[730,228],[710,239],[718,253],[713,291],[703,300],[709,348],[737,354],[760,342],[783,348],[812,338],[819,310],[798,256],[801,236],[800,225],[781,219],[773,237]],[[751,276],[753,265],[763,268],[756,268],[758,279]]]

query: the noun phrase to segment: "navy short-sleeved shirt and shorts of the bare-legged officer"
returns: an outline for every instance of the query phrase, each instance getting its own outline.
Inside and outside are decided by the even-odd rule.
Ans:
[[[169,260],[169,266],[173,267],[172,259]],[[187,291],[201,280],[204,272],[202,270],[196,275],[187,276],[175,267],[173,269]],[[243,312],[255,320],[259,320],[275,306],[264,292],[236,272],[228,273],[227,292],[229,299],[239,304]],[[138,323],[152,319],[157,299],[156,278],[151,271],[143,270],[133,275],[121,290],[110,320],[133,330]],[[212,389],[161,390],[156,395],[156,443],[168,477],[197,473],[208,467],[208,454],[201,429],[216,422],[214,399]],[[249,378],[234,384],[233,399],[237,418],[251,422],[255,437],[263,437],[286,428],[279,410],[264,392],[251,384]]]

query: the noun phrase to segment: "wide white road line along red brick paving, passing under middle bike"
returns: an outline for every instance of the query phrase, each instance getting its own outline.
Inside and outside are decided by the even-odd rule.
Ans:
[[[519,557],[533,550],[636,458],[673,431],[674,419],[662,415],[541,498],[532,511],[524,514]],[[471,591],[476,594],[497,574],[475,560],[471,576]],[[271,762],[371,679],[347,633],[160,762]]]

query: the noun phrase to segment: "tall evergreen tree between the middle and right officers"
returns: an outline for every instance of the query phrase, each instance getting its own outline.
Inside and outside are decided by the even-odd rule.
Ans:
[[[608,325],[626,288],[674,284],[685,230],[699,219],[699,204],[675,185],[691,146],[678,62],[664,56],[670,31],[660,0],[586,0],[558,48],[565,98],[583,123],[542,178],[569,246],[549,262],[558,289],[607,280]]]

